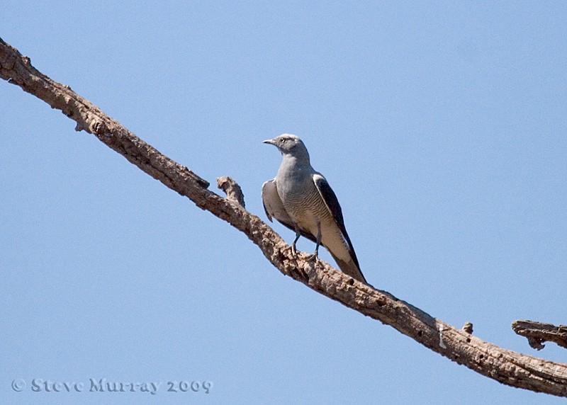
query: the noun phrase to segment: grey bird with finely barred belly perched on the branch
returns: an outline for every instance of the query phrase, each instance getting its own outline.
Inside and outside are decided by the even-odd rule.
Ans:
[[[299,237],[305,236],[315,242],[310,260],[318,258],[320,245],[325,246],[343,273],[366,283],[344,227],[337,196],[325,177],[311,167],[305,144],[289,134],[264,143],[277,147],[283,156],[276,178],[262,185],[262,203],[268,219],[274,217],[296,232],[291,244],[293,253]]]

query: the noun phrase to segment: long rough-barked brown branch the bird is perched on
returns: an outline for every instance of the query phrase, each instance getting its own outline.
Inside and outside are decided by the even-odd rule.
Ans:
[[[307,261],[307,253],[293,256],[281,237],[262,219],[235,202],[239,198],[222,198],[208,190],[208,182],[159,153],[69,86],[38,72],[30,59],[1,39],[0,76],[61,110],[77,122],[77,131],[95,135],[165,186],[244,232],[281,273],[361,314],[393,326],[423,346],[482,375],[513,387],[567,397],[566,364],[505,350],[456,329],[388,292],[359,283],[323,261]]]

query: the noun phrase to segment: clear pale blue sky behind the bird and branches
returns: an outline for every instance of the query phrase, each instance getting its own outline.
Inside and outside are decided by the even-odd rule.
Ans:
[[[263,219],[262,140],[300,136],[369,283],[565,363],[510,324],[567,324],[567,3],[494,3],[9,1],[0,37]],[[5,81],[0,135],[4,404],[564,403],[284,277]],[[103,378],[162,384],[89,392]]]

